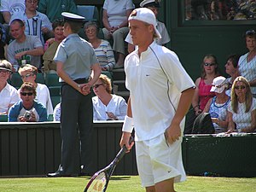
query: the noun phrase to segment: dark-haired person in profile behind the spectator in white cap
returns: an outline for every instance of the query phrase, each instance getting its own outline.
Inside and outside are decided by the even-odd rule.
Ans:
[[[230,55],[228,57],[228,61],[225,64],[226,73],[230,75],[230,78],[227,79],[229,83],[229,89],[226,90],[226,94],[230,96],[230,88],[238,76],[238,61],[239,61],[239,55]]]

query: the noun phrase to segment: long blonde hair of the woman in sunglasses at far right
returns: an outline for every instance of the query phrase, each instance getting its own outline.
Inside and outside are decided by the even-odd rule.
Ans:
[[[247,88],[247,92],[246,92],[246,111],[245,111],[245,113],[247,113],[250,110],[250,108],[252,106],[252,103],[253,103],[253,94],[252,94],[249,82],[247,81],[247,79],[245,79],[242,76],[238,76],[232,84],[232,88],[231,88],[231,108],[235,113],[237,113],[238,100],[237,100],[237,96],[236,96],[236,92],[235,92],[235,87],[236,87],[237,82],[241,82],[241,83],[245,84],[246,88]]]

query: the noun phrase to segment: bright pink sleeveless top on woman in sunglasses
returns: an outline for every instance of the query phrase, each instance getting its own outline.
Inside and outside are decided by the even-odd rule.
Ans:
[[[199,105],[201,110],[204,110],[208,100],[213,96],[215,96],[214,92],[210,92],[211,88],[212,88],[212,84],[206,84],[204,79],[200,80],[200,83],[198,86],[198,90],[199,90],[198,96],[199,96]]]

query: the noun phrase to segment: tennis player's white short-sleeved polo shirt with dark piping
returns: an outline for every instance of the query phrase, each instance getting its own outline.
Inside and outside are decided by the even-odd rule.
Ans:
[[[181,92],[195,86],[177,55],[155,42],[140,57],[136,49],[125,58],[125,74],[137,141],[164,133],[171,125]],[[182,132],[183,128],[184,119]]]

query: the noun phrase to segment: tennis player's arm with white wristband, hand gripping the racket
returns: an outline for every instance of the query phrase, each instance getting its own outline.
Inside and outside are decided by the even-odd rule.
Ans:
[[[126,148],[128,149],[128,152],[130,151],[130,149],[134,144],[133,142],[131,144],[129,143],[132,130],[133,130],[133,119],[132,119],[132,113],[131,113],[131,100],[129,97],[127,102],[127,115],[125,116],[125,121],[122,128],[123,134],[119,143],[120,147],[125,145]]]

